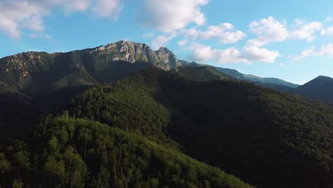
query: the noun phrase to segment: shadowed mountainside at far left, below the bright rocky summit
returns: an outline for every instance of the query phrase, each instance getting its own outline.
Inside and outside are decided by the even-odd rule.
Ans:
[[[110,61],[89,50],[28,52],[0,59],[0,131],[21,131],[43,113],[55,113],[92,85],[125,78],[147,62]]]

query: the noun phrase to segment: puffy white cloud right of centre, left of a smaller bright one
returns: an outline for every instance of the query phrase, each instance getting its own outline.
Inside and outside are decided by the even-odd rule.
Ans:
[[[271,42],[285,41],[288,36],[285,23],[281,23],[271,16],[260,21],[252,21],[250,32],[258,35],[258,38],[248,40],[248,46],[265,46]]]

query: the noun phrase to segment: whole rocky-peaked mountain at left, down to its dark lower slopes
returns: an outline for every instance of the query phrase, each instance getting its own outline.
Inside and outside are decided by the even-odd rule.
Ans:
[[[5,90],[14,91],[15,95],[29,96],[34,101],[33,105],[23,105],[25,112],[36,112],[35,108],[42,108],[42,113],[56,113],[71,98],[93,85],[121,80],[149,66],[170,70],[181,64],[167,48],[153,51],[147,44],[129,41],[66,53],[29,51],[1,58],[0,132],[11,130],[11,127],[20,132],[17,127],[26,127],[33,121],[33,118],[20,118],[21,115],[16,117],[21,113],[20,104],[7,103],[8,96],[1,95]],[[16,101],[15,98],[21,101],[21,96],[10,101]],[[18,126],[11,125],[11,114],[15,116]],[[38,115],[41,113],[34,113],[33,117]]]

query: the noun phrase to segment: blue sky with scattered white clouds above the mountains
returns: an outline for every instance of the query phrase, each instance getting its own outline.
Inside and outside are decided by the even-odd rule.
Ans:
[[[303,84],[333,77],[332,0],[0,0],[0,58],[121,40]]]

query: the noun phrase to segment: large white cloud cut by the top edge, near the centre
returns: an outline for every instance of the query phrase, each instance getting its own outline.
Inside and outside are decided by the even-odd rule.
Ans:
[[[206,22],[201,6],[206,4],[208,0],[145,0],[139,21],[163,32],[185,28],[190,23],[201,26]]]

